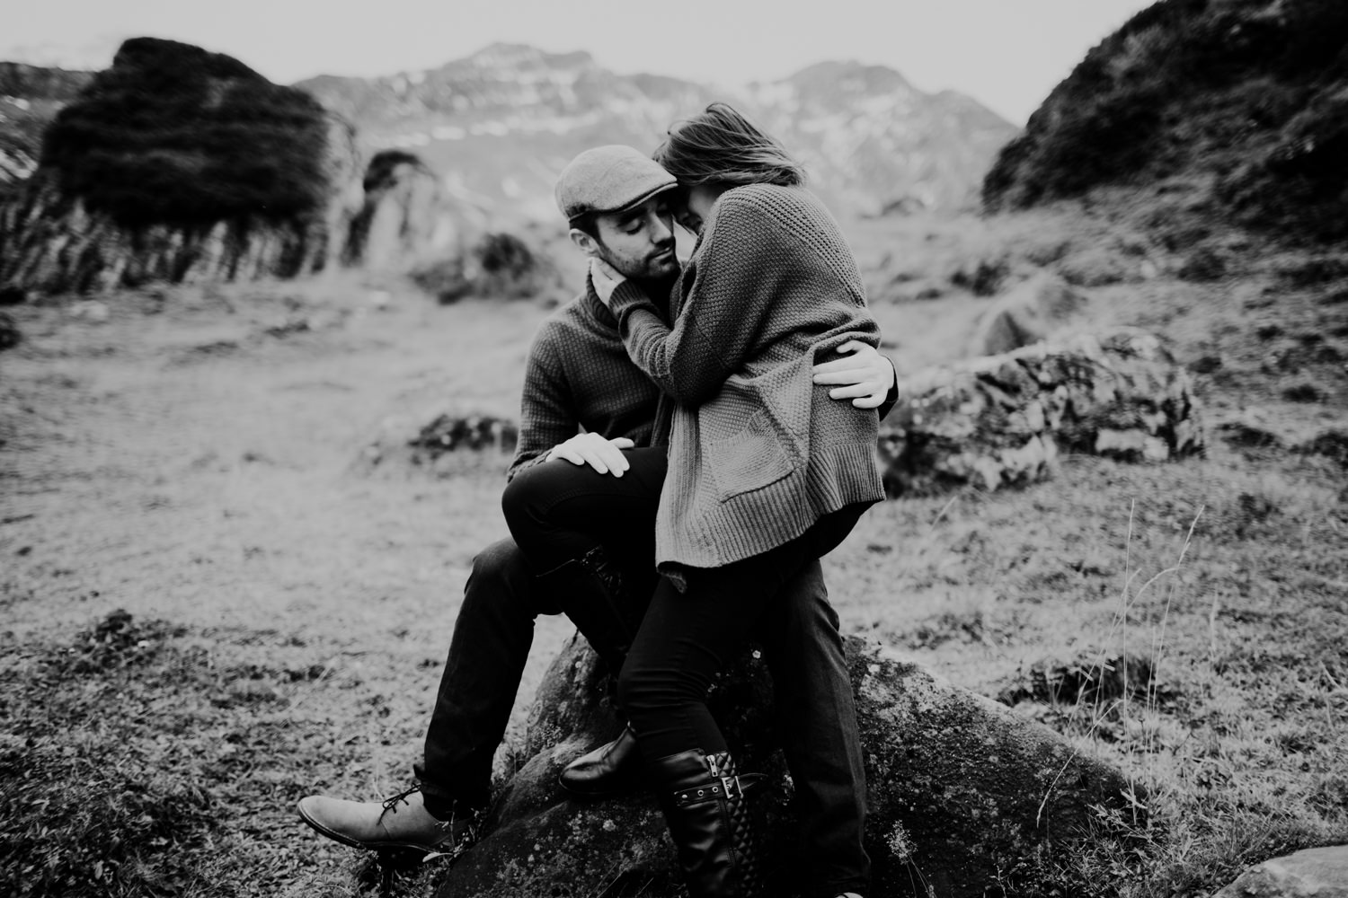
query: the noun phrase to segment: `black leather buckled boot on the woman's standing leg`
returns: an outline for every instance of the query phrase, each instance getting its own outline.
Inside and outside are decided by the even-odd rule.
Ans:
[[[728,751],[700,749],[647,767],[690,898],[758,898],[763,890],[762,824],[747,794],[762,774],[739,774]]]

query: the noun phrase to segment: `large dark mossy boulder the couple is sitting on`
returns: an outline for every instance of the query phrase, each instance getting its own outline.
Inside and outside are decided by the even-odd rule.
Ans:
[[[1134,813],[1124,777],[1046,727],[859,638],[848,640],[847,657],[867,754],[872,894],[907,895],[921,882],[938,895],[983,895],[999,871],[1046,845],[1070,845],[1099,809]],[[604,696],[604,672],[573,640],[539,687],[523,765],[493,806],[484,839],[439,883],[441,898],[683,894],[647,793],[578,801],[557,786],[563,763],[615,735]],[[770,696],[766,665],[745,654],[710,700],[744,767],[775,784],[763,798],[768,894],[790,898],[798,894],[801,856]]]

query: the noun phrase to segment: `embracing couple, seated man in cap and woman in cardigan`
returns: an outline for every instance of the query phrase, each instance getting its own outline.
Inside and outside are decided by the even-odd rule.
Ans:
[[[577,156],[555,188],[590,261],[530,349],[503,509],[473,560],[422,761],[386,801],[310,796],[302,817],[364,848],[474,837],[538,614],[566,614],[625,728],[562,785],[659,802],[694,898],[762,894],[758,777],[705,697],[764,646],[795,784],[809,898],[867,894],[865,781],[820,557],[883,498],[894,401],[852,252],[801,167],[724,104],[654,158]],[[675,257],[675,226],[697,234]]]

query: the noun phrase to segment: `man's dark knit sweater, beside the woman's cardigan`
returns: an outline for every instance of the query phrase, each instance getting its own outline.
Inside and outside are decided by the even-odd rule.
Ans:
[[[520,400],[519,443],[507,478],[547,458],[584,428],[608,439],[650,446],[661,392],[617,335],[617,320],[585,292],[543,322],[528,350]]]

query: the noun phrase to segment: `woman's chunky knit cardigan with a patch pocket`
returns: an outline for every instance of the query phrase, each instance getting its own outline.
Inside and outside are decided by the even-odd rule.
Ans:
[[[876,411],[813,382],[816,361],[848,339],[879,343],[856,260],[813,194],[724,193],[674,288],[673,327],[631,281],[609,306],[632,361],[673,400],[655,549],[675,582],[884,497]]]

